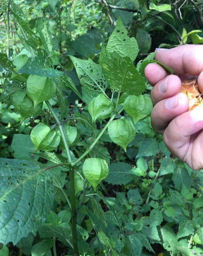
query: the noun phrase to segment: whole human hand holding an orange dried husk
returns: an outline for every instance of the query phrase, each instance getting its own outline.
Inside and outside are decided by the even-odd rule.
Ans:
[[[199,76],[198,85],[203,92],[203,45],[158,49],[155,59],[177,75],[169,75],[156,63],[145,68],[146,78],[153,85],[152,127],[163,134],[172,154],[194,170],[203,169],[203,106],[188,111],[188,97],[180,93],[181,80],[195,76]]]

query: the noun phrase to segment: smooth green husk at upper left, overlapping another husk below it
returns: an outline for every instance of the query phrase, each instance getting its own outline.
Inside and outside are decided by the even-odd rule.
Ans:
[[[56,84],[44,76],[30,75],[27,80],[27,95],[37,106],[40,102],[51,99],[56,93]]]

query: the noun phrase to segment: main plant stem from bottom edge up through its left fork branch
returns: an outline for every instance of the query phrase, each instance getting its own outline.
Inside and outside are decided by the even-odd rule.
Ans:
[[[72,163],[71,152],[70,152],[70,149],[68,146],[68,141],[66,139],[66,135],[65,135],[65,132],[63,129],[63,124],[57,117],[56,113],[54,112],[54,110],[48,100],[46,101],[46,104],[47,104],[48,108],[50,109],[51,114],[55,118],[57,124],[59,125],[63,144],[65,145],[65,151],[66,151],[67,158],[68,158],[69,162]],[[74,256],[79,256],[78,244],[77,244],[77,232],[76,232],[77,231],[77,229],[76,229],[77,228],[77,226],[76,226],[77,225],[77,220],[76,220],[77,214],[76,214],[76,206],[75,206],[74,166],[69,166],[69,177],[70,177],[70,189],[71,189],[71,223],[72,223],[73,250],[74,250]]]

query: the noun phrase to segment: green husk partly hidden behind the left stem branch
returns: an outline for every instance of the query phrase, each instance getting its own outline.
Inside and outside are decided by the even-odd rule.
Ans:
[[[67,124],[63,125],[63,129],[65,132],[69,147],[75,145],[79,140],[78,130],[75,127],[69,126]],[[63,144],[62,139],[60,140],[60,146],[61,146],[62,150],[64,150],[64,144]]]

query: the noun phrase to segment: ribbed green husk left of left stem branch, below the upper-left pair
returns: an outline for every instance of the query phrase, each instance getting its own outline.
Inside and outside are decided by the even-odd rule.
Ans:
[[[51,130],[49,126],[44,124],[38,124],[35,126],[31,133],[31,140],[35,145],[35,150],[52,151],[58,147],[60,142],[60,136],[54,130]]]

